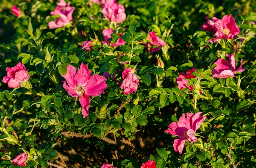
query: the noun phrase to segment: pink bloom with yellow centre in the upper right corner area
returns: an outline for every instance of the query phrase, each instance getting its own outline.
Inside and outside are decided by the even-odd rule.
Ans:
[[[218,39],[232,39],[241,33],[231,14],[229,16],[225,15],[221,20],[216,21],[214,27],[217,31],[215,37]]]

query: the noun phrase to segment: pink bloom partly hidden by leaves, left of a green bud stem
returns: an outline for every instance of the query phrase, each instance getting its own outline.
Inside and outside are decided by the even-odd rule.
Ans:
[[[177,84],[179,89],[188,88],[190,91],[194,89],[193,85],[186,86],[189,83],[189,81],[187,81],[186,79],[196,78],[196,76],[191,75],[191,73],[193,73],[195,70],[196,68],[192,68],[191,70],[188,70],[187,75],[185,75],[185,73],[183,72],[180,73],[180,76],[177,77]]]

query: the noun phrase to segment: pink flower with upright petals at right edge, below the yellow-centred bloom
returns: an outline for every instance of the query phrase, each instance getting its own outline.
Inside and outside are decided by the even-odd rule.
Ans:
[[[245,71],[245,68],[242,68],[243,59],[241,59],[241,61],[240,61],[241,64],[238,67],[238,69],[235,70],[236,69],[236,60],[235,60],[234,55],[226,54],[226,57],[229,58],[229,62],[225,59],[219,58],[214,63],[216,65],[216,67],[211,70],[213,78],[219,79],[219,78],[227,78],[229,76],[234,77],[234,74],[236,74],[237,72]]]

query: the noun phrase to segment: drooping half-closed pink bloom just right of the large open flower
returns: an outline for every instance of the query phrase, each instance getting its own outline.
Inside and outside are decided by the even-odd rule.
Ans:
[[[122,72],[122,78],[124,79],[121,84],[121,89],[124,89],[124,94],[131,94],[133,91],[136,93],[139,85],[139,79],[135,73],[131,73],[131,68],[126,68]],[[126,76],[126,77],[125,77]]]

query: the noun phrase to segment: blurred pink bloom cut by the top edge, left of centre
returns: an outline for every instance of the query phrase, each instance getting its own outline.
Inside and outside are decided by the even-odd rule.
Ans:
[[[116,0],[101,1],[102,14],[111,22],[121,23],[125,21],[126,14],[122,5],[117,4]]]

